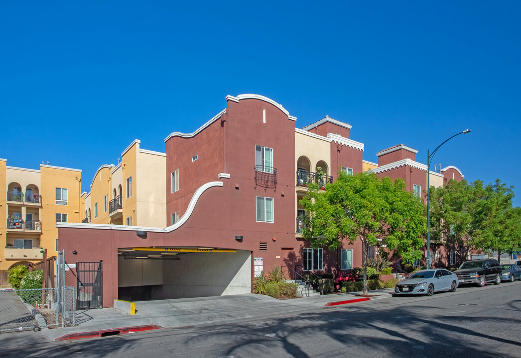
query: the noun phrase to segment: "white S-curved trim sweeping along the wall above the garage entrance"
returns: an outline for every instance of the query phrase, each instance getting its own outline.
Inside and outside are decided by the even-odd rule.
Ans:
[[[173,225],[162,227],[147,227],[147,226],[126,226],[126,225],[109,225],[109,224],[82,224],[82,223],[56,223],[56,227],[67,227],[67,228],[84,228],[84,229],[102,229],[102,230],[118,230],[118,231],[147,231],[152,233],[170,233],[178,229],[181,225],[188,221],[190,215],[192,215],[197,200],[203,195],[203,193],[214,186],[222,186],[222,182],[209,182],[201,185],[195,190],[192,200],[188,204],[187,211],[184,212],[183,216],[179,221]]]

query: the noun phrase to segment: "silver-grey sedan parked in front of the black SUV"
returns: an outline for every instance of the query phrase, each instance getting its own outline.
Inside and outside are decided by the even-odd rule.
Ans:
[[[435,268],[413,272],[408,278],[401,280],[394,287],[398,295],[432,296],[438,291],[454,292],[458,286],[458,278],[452,272]]]

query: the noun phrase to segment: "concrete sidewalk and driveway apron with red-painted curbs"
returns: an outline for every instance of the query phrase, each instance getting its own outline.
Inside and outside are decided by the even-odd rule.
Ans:
[[[391,297],[392,292],[392,288],[369,291],[369,295],[377,295],[369,299]],[[52,342],[119,335],[158,328],[229,323],[245,318],[275,316],[368,300],[359,297],[360,294],[361,292],[334,293],[277,300],[269,296],[250,293],[234,296],[142,301],[135,302],[136,314],[134,315],[114,308],[77,311],[75,327],[44,328],[39,332],[3,333],[0,334],[0,342],[7,339],[22,340],[20,336],[22,334],[24,337],[30,338],[31,342]]]

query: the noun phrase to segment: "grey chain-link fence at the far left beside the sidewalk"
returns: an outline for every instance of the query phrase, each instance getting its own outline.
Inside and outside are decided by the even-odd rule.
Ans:
[[[76,325],[76,288],[65,286],[64,262],[60,252],[57,287],[0,290],[0,333]]]

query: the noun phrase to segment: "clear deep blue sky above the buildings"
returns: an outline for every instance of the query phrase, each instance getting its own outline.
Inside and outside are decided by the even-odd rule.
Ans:
[[[164,151],[255,93],[296,126],[350,123],[364,159],[404,143],[521,205],[521,2],[2,2],[0,158],[83,170]]]

